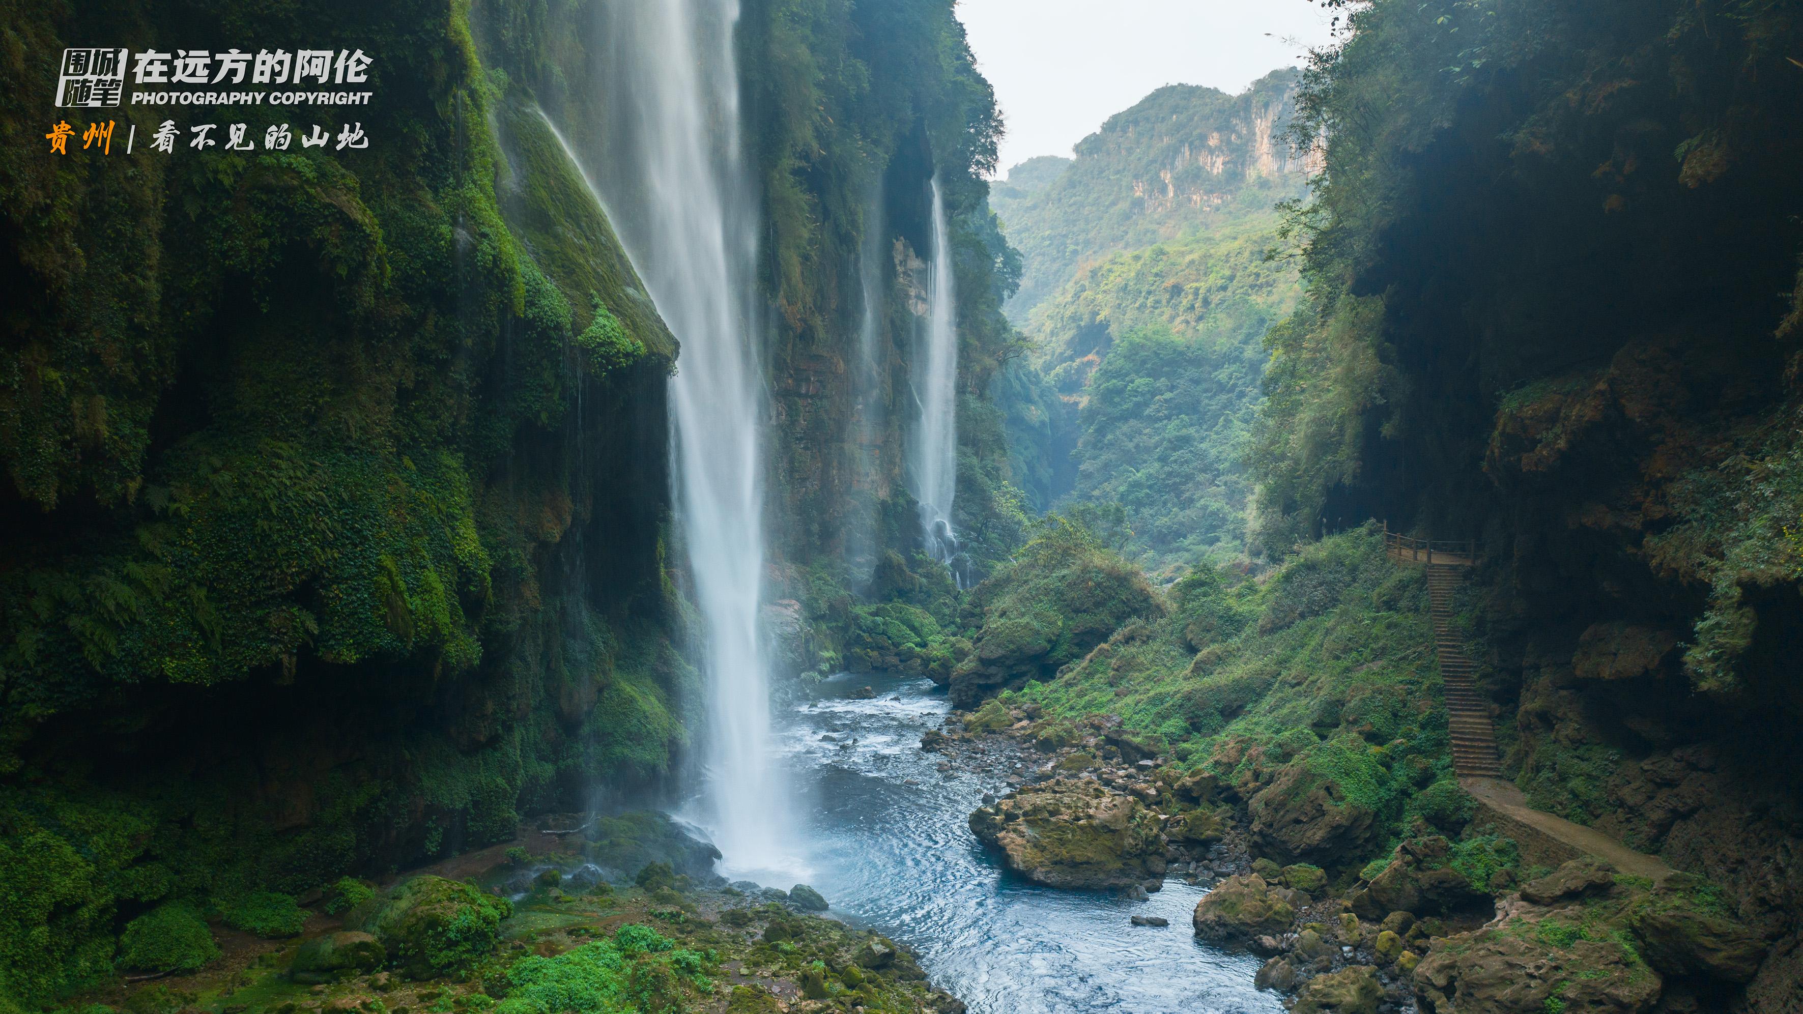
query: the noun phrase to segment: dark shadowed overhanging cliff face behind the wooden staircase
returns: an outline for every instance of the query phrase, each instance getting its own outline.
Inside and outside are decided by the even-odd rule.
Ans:
[[[1803,902],[1798,23],[1428,13],[1359,13],[1300,101],[1327,173],[1293,220],[1311,301],[1273,333],[1262,537],[1477,537],[1509,774],[1776,933]],[[1794,1003],[1774,955],[1765,1009]]]

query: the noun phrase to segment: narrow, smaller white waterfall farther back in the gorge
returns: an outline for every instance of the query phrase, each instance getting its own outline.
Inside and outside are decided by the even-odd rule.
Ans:
[[[912,461],[914,501],[927,551],[952,567],[957,566],[957,537],[952,531],[952,497],[957,493],[957,294],[952,281],[952,241],[945,225],[945,195],[939,177],[932,178],[932,261],[927,272],[927,328],[914,353],[914,400],[920,423],[914,429]]]

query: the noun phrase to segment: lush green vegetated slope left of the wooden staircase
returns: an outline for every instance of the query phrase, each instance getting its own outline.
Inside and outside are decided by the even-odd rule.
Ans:
[[[1060,544],[1060,558],[1109,555],[1107,535],[1094,526],[1055,522],[1060,531],[1042,544]],[[1082,551],[1073,551],[1073,540],[1084,542]],[[1114,567],[1130,569],[1118,558]],[[1093,584],[1078,566],[1042,573],[1017,564],[979,596],[1028,589],[1022,602],[1057,611],[1058,591],[1039,587],[1048,580],[1073,589]],[[1013,720],[1010,708],[1037,715],[1033,735],[1048,742],[1058,742],[1069,722],[1118,717],[1149,753],[1212,773],[1249,803],[1255,837],[1271,827],[1262,847],[1287,852],[1287,861],[1358,870],[1403,837],[1460,836],[1471,805],[1453,780],[1426,582],[1387,558],[1376,528],[1313,544],[1264,578],[1197,567],[1159,598],[1111,616],[1093,650],[1048,666],[984,708],[1002,724]],[[975,632],[979,648],[1008,636],[1010,623],[1011,616],[986,618]],[[1282,816],[1305,812],[1311,798],[1334,801],[1304,823],[1345,828],[1327,837],[1325,852],[1287,841],[1280,830],[1293,823]],[[1460,845],[1455,868],[1487,877],[1513,865],[1496,848],[1507,847]]]

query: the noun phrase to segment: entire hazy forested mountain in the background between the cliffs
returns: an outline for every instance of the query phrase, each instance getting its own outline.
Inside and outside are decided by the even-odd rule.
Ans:
[[[1022,250],[1010,313],[1033,342],[999,391],[1017,470],[1040,506],[1121,504],[1158,567],[1244,551],[1262,337],[1300,294],[1268,259],[1277,204],[1305,182],[1295,83],[1159,88],[1075,160],[1015,166],[990,195]]]

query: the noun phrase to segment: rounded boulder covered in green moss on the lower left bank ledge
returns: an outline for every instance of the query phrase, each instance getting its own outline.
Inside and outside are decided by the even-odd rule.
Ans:
[[[444,877],[413,877],[359,906],[355,924],[413,978],[453,974],[494,949],[514,906]],[[350,920],[348,920],[350,922]]]

